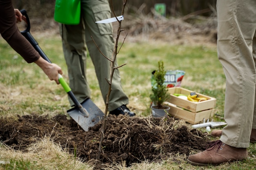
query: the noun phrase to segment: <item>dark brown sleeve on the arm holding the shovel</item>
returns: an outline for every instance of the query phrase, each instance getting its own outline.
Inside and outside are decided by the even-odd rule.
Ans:
[[[18,30],[11,0],[0,0],[0,34],[27,63],[39,59],[38,52]]]

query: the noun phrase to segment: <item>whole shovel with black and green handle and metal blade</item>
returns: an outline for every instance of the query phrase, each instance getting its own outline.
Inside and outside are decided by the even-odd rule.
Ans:
[[[47,62],[52,63],[49,58],[45,55],[43,50],[39,47],[38,42],[33,38],[30,31],[30,22],[29,17],[25,9],[20,11],[22,15],[25,15],[25,22],[27,23],[27,28],[20,33],[30,42],[30,44],[36,49],[36,51],[45,59]],[[74,108],[67,110],[67,113],[76,121],[77,124],[83,128],[83,130],[88,131],[89,127],[97,124],[104,116],[104,113],[92,102],[92,100],[88,97],[81,104],[78,102],[74,93],[71,91],[71,88],[65,82],[61,74],[58,74],[58,80],[65,92],[69,95],[72,101],[75,104]]]

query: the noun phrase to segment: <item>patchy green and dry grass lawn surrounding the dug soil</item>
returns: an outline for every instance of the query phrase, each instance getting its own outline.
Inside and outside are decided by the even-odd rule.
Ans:
[[[67,67],[62,53],[61,39],[59,36],[35,37],[39,46],[49,59],[63,69],[63,77],[68,82]],[[157,62],[164,61],[167,70],[185,71],[181,86],[189,90],[216,98],[215,121],[223,117],[225,98],[225,75],[218,61],[216,46],[184,46],[169,45],[159,42],[125,42],[117,55],[122,78],[122,86],[130,99],[129,107],[137,115],[149,116],[151,93],[151,72],[157,69]],[[99,90],[99,85],[94,73],[94,67],[88,57],[88,79],[92,90],[92,100],[104,110],[104,103]],[[0,117],[7,119],[11,115],[41,114],[55,115],[66,114],[70,108],[67,94],[55,82],[50,81],[36,64],[27,64],[20,55],[9,47],[0,38]],[[8,121],[8,120],[7,120]],[[1,140],[1,139],[0,139]],[[1,165],[0,170],[48,170],[48,169],[88,169],[81,161],[74,161],[74,155],[63,153],[57,144],[48,139],[42,145],[48,144],[48,150],[54,156],[52,159],[40,159],[44,153],[20,153],[6,148],[0,143],[0,161],[9,160],[9,166]],[[46,146],[41,146],[45,148]],[[8,151],[8,152],[7,152]],[[248,149],[249,158],[238,163],[224,164],[217,167],[194,167],[186,163],[184,155],[173,155],[170,159],[177,160],[180,164],[163,160],[162,163],[141,163],[129,168],[119,166],[121,170],[174,170],[174,169],[219,169],[219,170],[244,170],[256,167],[256,144],[251,144]],[[60,159],[60,157],[62,159]],[[52,161],[54,159],[54,161]],[[90,168],[89,168],[90,169]],[[110,168],[111,169],[111,168]]]

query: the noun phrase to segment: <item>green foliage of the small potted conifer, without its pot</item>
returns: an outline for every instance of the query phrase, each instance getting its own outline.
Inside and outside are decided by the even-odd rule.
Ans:
[[[155,108],[163,108],[163,103],[168,98],[167,88],[164,85],[166,71],[164,70],[164,62],[158,62],[158,70],[153,74],[155,84],[152,86],[153,94],[150,94],[150,99],[157,106]]]

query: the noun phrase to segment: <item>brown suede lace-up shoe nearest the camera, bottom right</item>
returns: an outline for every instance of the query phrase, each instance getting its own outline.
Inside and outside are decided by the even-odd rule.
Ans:
[[[219,165],[220,163],[240,161],[247,158],[246,148],[235,148],[224,144],[222,141],[214,141],[210,148],[195,155],[189,155],[188,163],[194,166]]]

